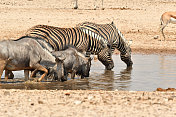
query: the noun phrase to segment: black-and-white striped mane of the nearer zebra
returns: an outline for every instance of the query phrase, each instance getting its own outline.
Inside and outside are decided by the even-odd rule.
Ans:
[[[82,31],[83,31],[84,33],[86,33],[87,35],[89,35],[89,36],[95,38],[96,40],[98,40],[98,41],[100,41],[100,42],[102,42],[105,47],[109,44],[108,40],[104,39],[101,35],[97,34],[96,32],[94,32],[94,31],[92,31],[92,30],[90,30],[90,29],[87,29],[87,28],[85,28],[85,27],[80,27],[80,28],[81,28]]]

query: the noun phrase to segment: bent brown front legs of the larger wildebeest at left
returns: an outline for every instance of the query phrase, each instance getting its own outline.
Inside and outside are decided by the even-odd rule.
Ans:
[[[45,67],[43,67],[42,65],[40,65],[39,63],[35,64],[33,66],[33,68],[35,70],[31,73],[31,76],[34,75],[34,73],[36,72],[36,70],[44,71],[44,74],[38,79],[38,82],[40,82],[48,74],[48,70]]]

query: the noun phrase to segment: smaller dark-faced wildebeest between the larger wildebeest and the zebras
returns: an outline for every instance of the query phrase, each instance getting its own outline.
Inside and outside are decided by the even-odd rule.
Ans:
[[[74,79],[75,74],[80,75],[81,78],[89,77],[89,71],[91,66],[91,58],[85,57],[81,52],[78,52],[74,47],[66,47],[67,49],[62,51],[53,51],[52,55],[56,58],[59,56],[65,56],[64,60],[64,74],[65,80],[67,80],[68,73],[71,73],[71,78]]]

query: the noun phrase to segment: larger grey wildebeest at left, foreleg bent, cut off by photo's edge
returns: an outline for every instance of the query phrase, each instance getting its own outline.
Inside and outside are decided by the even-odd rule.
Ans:
[[[55,58],[49,51],[33,39],[25,38],[17,41],[0,42],[0,79],[4,70],[39,70],[44,74],[38,79],[41,81],[48,73],[44,67],[52,68],[58,79],[64,77],[63,57]],[[42,64],[42,65],[41,65]],[[31,77],[33,76],[33,72]],[[5,74],[8,78],[8,72]]]

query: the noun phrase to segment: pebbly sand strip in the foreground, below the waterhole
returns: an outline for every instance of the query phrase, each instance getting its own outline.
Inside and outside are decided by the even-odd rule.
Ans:
[[[176,92],[0,90],[2,117],[174,117]]]

